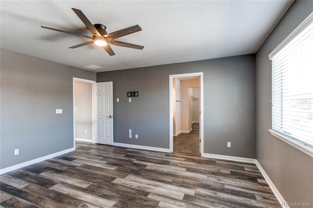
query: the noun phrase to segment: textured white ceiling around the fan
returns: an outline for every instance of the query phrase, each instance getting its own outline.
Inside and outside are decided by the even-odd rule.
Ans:
[[[0,1],[0,46],[8,50],[91,71],[111,71],[255,53],[292,1]],[[138,24],[142,31],[119,41],[143,50],[111,45],[68,47],[89,41],[47,26],[90,36],[71,8],[107,32]],[[86,69],[86,68],[84,68]]]

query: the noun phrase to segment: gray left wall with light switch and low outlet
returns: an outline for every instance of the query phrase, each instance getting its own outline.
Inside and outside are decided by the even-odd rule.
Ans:
[[[73,77],[96,74],[4,49],[0,67],[0,168],[73,147]]]

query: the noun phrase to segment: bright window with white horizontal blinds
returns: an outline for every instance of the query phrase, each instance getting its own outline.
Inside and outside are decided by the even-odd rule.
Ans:
[[[272,133],[313,153],[313,13],[271,54]],[[297,147],[297,148],[298,148]]]

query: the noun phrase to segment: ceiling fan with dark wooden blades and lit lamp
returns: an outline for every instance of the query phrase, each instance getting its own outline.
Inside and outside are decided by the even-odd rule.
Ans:
[[[59,31],[59,32],[63,32],[63,33],[71,34],[71,35],[76,35],[76,36],[81,36],[81,37],[92,39],[92,41],[84,42],[84,43],[81,43],[78,45],[74,45],[74,46],[69,47],[69,48],[78,48],[78,47],[81,47],[84,45],[89,45],[89,44],[94,43],[98,46],[102,46],[104,48],[104,50],[106,50],[110,56],[115,55],[112,48],[110,47],[110,44],[128,47],[128,48],[139,49],[139,50],[143,49],[144,46],[142,46],[142,45],[136,45],[136,44],[132,44],[132,43],[128,43],[128,42],[121,42],[121,41],[115,41],[114,40],[116,38],[120,38],[120,37],[123,37],[123,36],[126,36],[126,35],[140,31],[141,28],[139,27],[139,25],[127,27],[127,28],[124,28],[124,29],[121,29],[121,30],[118,30],[118,31],[115,31],[115,32],[108,34],[106,31],[107,27],[105,25],[103,25],[103,24],[92,24],[87,19],[87,17],[84,15],[84,13],[81,10],[74,9],[74,8],[72,8],[72,10],[76,13],[76,15],[81,19],[81,21],[84,22],[84,24],[90,30],[90,32],[92,33],[92,37],[87,36],[87,35],[78,34],[78,33],[68,32],[68,31],[64,31],[64,30],[54,29],[54,28],[50,28],[50,27],[45,27],[45,26],[41,26],[41,27],[45,28],[45,29],[49,29],[49,30],[55,30],[55,31]]]

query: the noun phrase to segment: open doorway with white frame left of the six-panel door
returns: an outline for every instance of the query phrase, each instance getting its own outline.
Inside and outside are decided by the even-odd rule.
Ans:
[[[95,81],[73,78],[73,121],[75,141],[94,143],[93,83]]]

